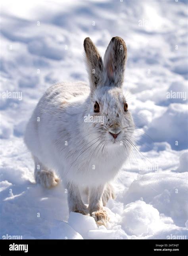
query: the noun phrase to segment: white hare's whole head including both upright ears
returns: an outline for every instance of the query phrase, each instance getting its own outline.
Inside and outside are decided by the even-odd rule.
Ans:
[[[92,142],[99,150],[107,144],[126,147],[132,137],[128,129],[134,125],[122,90],[127,46],[122,38],[113,37],[104,54],[104,62],[88,37],[84,40],[84,50],[90,78],[90,114],[94,116],[93,129],[87,127],[88,132],[92,131],[89,135],[95,136]]]

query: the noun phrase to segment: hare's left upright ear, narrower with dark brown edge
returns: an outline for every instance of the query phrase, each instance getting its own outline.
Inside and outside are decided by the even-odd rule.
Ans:
[[[86,37],[84,40],[84,50],[86,53],[87,71],[92,91],[95,90],[96,87],[104,85],[106,81],[106,71],[104,69],[102,57],[89,37]]]

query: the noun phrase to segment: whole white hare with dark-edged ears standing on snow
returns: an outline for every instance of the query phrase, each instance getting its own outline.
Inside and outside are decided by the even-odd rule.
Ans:
[[[84,82],[50,87],[29,120],[25,143],[35,161],[36,182],[50,188],[59,176],[68,191],[69,211],[90,214],[106,225],[103,204],[114,198],[109,182],[128,157],[132,133],[126,129],[134,124],[122,89],[127,48],[122,38],[113,37],[104,63],[90,38],[84,50],[90,87]],[[99,112],[94,112],[96,102]],[[88,115],[100,115],[104,123],[84,122]],[[82,189],[88,190],[88,208]]]

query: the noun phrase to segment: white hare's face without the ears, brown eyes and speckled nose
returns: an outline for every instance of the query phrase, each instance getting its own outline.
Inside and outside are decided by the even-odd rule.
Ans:
[[[133,119],[123,91],[117,87],[102,87],[92,95],[94,127],[100,139],[107,143],[125,144],[130,139]]]

